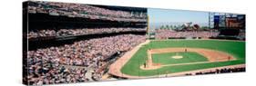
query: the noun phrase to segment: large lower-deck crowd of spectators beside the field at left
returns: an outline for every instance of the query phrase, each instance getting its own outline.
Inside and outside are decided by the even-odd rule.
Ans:
[[[100,81],[103,72],[99,69],[106,65],[105,59],[144,41],[145,35],[122,34],[28,51],[27,79],[34,85]]]

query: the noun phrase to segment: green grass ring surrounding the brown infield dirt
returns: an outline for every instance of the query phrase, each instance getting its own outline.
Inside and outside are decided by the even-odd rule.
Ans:
[[[210,62],[189,65],[166,66],[157,70],[141,70],[140,65],[147,61],[147,50],[168,48],[168,47],[191,47],[218,50],[232,54],[237,60],[230,62]],[[220,67],[234,64],[245,63],[245,42],[237,41],[218,41],[218,40],[168,40],[168,41],[151,41],[149,44],[142,46],[137,53],[123,66],[121,72],[133,76],[151,76],[165,74],[166,72],[187,72],[212,67]]]

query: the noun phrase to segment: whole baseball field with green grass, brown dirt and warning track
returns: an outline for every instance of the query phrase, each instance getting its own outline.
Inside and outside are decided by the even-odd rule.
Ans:
[[[123,76],[150,77],[245,64],[245,42],[153,40],[125,56],[112,65],[112,74],[119,72]]]

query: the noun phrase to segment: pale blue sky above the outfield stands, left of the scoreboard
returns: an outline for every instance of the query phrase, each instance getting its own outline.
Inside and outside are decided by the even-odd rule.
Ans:
[[[148,8],[149,24],[155,23],[208,23],[209,13],[199,11]]]

